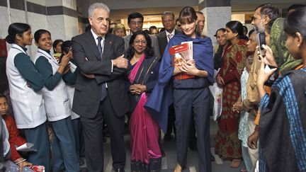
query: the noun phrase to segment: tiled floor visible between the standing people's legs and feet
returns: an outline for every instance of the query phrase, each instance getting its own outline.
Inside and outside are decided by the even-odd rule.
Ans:
[[[212,147],[212,154],[214,153],[214,145],[215,145],[215,134],[217,133],[217,123],[213,120],[210,120],[210,144]],[[111,159],[111,144],[106,142],[104,144],[105,154],[104,154],[104,166],[105,172],[112,171],[112,159]],[[173,172],[174,166],[176,165],[176,142],[175,139],[171,139],[169,142],[163,142],[162,146],[166,153],[166,156],[162,159],[162,172]],[[130,139],[129,135],[125,135],[125,148],[127,154],[127,161],[125,165],[125,171],[130,172]],[[229,161],[222,161],[217,155],[215,156],[216,161],[212,162],[212,172],[239,172],[240,168],[244,166],[240,166],[239,168],[230,168]],[[186,168],[183,172],[205,172],[198,171],[198,154],[196,151],[188,151],[188,168]]]

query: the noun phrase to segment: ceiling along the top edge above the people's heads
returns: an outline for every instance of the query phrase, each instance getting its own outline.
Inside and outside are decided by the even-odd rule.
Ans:
[[[87,16],[89,4],[100,1],[111,8],[111,18],[120,20],[128,18],[132,12],[140,12],[145,16],[145,21],[160,21],[164,11],[173,11],[175,16],[183,6],[193,6],[198,10],[199,0],[76,0],[81,16]],[[212,0],[205,0],[212,1]],[[260,4],[273,3],[280,9],[288,8],[292,4],[305,4],[305,0],[228,0],[231,1],[232,13],[252,13]]]

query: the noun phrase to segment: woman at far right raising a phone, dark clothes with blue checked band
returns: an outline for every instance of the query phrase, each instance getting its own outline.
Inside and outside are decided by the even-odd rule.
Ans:
[[[276,64],[272,50],[263,46],[257,80],[261,98],[259,122],[261,156],[259,171],[305,171],[306,169],[306,8],[299,8],[288,15],[284,22],[287,41],[285,47],[295,59],[302,59],[303,68],[290,70],[277,79],[268,96],[263,84],[275,69],[266,70],[265,64]]]

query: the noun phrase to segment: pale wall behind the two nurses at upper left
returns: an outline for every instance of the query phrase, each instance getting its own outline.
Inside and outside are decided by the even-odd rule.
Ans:
[[[10,0],[13,1],[13,0]],[[42,6],[65,6],[67,8],[77,9],[75,0],[28,0],[34,4]],[[8,11],[9,15],[8,16]],[[28,21],[26,21],[26,16]],[[9,21],[11,19],[11,21]],[[79,24],[77,16],[55,15],[45,16],[39,13],[32,13],[0,6],[0,38],[5,38],[8,35],[8,25],[10,23],[28,23],[34,34],[38,29],[49,30],[52,34],[52,39],[70,40],[73,36],[79,35]],[[28,46],[28,54],[34,57],[37,52],[37,47],[34,44]]]

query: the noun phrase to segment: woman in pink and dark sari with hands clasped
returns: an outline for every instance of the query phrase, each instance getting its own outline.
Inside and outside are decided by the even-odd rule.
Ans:
[[[160,171],[159,125],[144,108],[158,79],[159,58],[154,57],[151,39],[143,31],[134,33],[129,45],[131,171]]]

